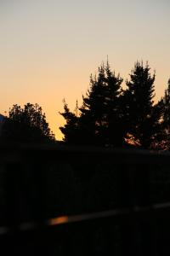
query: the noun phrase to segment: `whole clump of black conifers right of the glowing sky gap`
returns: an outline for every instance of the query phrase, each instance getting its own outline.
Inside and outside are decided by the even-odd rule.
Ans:
[[[127,89],[122,78],[111,71],[109,62],[90,76],[90,86],[82,96],[82,107],[71,112],[64,102],[66,121],[60,131],[65,143],[139,148],[162,148],[170,140],[170,80],[165,96],[157,103],[155,73],[146,62],[134,64]]]

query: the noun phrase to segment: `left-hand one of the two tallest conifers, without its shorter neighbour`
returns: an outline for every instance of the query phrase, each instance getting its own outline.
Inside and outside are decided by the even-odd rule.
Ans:
[[[122,121],[122,78],[111,71],[109,62],[99,67],[83,97],[80,125],[90,136],[88,143],[122,146],[125,126]]]

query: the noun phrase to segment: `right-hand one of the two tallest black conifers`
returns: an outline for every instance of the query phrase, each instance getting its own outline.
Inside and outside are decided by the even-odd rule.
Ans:
[[[127,141],[141,148],[151,148],[160,133],[160,103],[154,105],[155,74],[150,75],[150,67],[138,61],[127,81],[124,92],[127,122]]]

